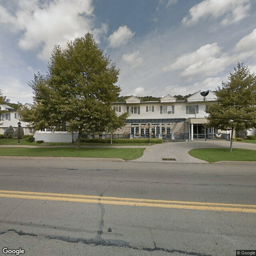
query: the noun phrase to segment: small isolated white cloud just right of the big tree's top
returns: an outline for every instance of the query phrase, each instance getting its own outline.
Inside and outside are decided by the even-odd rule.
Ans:
[[[125,45],[134,36],[134,32],[127,28],[126,25],[120,26],[113,34],[108,37],[109,46],[116,48]]]

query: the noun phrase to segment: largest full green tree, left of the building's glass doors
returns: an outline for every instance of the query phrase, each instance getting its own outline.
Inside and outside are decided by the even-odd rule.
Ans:
[[[82,132],[104,132],[116,117],[112,102],[121,89],[116,85],[120,70],[103,54],[92,34],[55,46],[48,63],[48,73],[38,72],[30,86],[34,106],[20,110],[22,120],[35,130],[78,131],[77,148]],[[127,113],[118,120],[124,123]]]

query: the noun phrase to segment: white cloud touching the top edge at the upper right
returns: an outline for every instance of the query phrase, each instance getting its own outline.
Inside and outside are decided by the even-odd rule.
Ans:
[[[189,15],[182,19],[186,25],[196,24],[207,17],[224,16],[222,25],[234,24],[247,17],[250,0],[204,0],[189,10]]]

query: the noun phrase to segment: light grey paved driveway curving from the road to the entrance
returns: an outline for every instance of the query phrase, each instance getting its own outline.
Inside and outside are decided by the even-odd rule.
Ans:
[[[229,148],[227,140],[193,140],[188,142],[164,142],[147,146],[141,158],[132,162],[178,162],[178,163],[207,163],[194,158],[188,151],[194,148]],[[233,148],[247,148],[256,150],[256,144],[246,142],[233,142]],[[175,158],[175,161],[166,161],[162,158]]]

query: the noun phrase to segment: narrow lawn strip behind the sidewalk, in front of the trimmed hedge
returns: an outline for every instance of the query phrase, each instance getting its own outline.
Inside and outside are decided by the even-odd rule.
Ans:
[[[18,139],[0,139],[0,145],[17,145]],[[75,146],[72,143],[61,143],[61,142],[50,142],[50,146]],[[154,143],[151,143],[153,145]],[[24,139],[20,140],[20,145],[29,145],[29,146],[40,146],[36,142],[26,142]],[[148,146],[148,143],[120,143],[120,144],[110,144],[110,143],[88,143],[81,142],[81,146]]]

